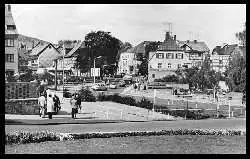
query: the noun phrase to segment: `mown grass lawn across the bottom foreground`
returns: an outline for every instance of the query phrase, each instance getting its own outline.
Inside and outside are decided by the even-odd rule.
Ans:
[[[133,136],[5,145],[6,154],[246,154],[246,136]]]

